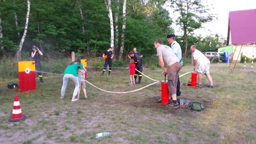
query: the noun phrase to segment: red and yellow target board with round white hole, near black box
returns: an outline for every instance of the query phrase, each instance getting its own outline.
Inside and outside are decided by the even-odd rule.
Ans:
[[[19,61],[19,88],[20,92],[36,90],[35,61]]]

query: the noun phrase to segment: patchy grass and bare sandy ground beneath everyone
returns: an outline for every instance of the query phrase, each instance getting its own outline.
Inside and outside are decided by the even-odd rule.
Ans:
[[[10,81],[2,79],[0,143],[256,143],[256,74],[244,72],[241,67],[239,64],[233,71],[227,64],[211,65],[215,88],[181,88],[180,99],[204,104],[200,112],[156,103],[160,84],[122,95],[101,92],[86,84],[88,99],[71,102],[74,84],[69,81],[61,100],[61,76],[47,75],[45,83],[36,79],[36,91],[23,93],[6,89]],[[191,65],[186,65],[180,74],[190,70]],[[143,72],[163,79],[160,68],[145,68]],[[111,76],[100,74],[101,70],[88,68],[88,81],[113,92],[152,83],[143,77],[143,83],[129,86],[126,69],[113,69]],[[188,82],[189,77],[180,80]],[[205,77],[203,83],[207,85]],[[15,94],[27,116],[24,122],[8,122]],[[104,131],[110,136],[95,138]]]

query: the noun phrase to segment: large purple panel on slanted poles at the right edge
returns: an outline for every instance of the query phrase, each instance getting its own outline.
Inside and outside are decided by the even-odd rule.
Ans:
[[[235,53],[237,51],[237,47],[240,47],[238,56],[236,58],[236,63],[239,55],[241,54],[243,46],[248,44],[254,45],[256,43],[255,17],[256,9],[229,12],[227,45],[236,45],[234,49]],[[234,55],[235,54],[232,56],[232,60]],[[234,68],[236,68],[236,63]]]

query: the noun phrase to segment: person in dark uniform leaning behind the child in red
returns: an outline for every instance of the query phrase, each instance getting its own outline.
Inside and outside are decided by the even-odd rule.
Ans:
[[[142,72],[142,70],[143,70],[143,63],[142,63],[142,58],[141,58],[140,54],[138,54],[136,52],[129,52],[128,57],[134,59],[134,63],[136,65],[136,69],[139,70],[140,72]],[[141,83],[142,74],[140,72],[138,72],[137,70],[136,70],[136,72],[134,74],[134,79],[135,79],[135,83],[136,84],[140,84]],[[137,77],[139,77],[138,81],[136,81]]]

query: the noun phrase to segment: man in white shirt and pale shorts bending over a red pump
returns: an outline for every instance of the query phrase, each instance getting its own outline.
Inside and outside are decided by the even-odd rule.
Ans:
[[[193,52],[194,68],[197,66],[198,86],[202,86],[202,75],[204,74],[209,81],[209,88],[213,88],[212,76],[210,75],[210,61],[206,56],[196,49],[196,45],[191,45],[190,51]]]

